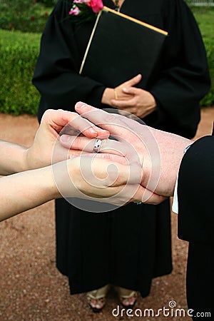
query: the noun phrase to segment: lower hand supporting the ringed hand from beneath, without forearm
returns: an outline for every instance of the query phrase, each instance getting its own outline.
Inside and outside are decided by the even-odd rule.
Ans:
[[[52,172],[58,193],[55,198],[83,198],[121,206],[141,202],[145,193],[139,184],[140,166],[112,163],[98,154],[56,163]],[[160,203],[160,197],[151,195],[151,203]]]

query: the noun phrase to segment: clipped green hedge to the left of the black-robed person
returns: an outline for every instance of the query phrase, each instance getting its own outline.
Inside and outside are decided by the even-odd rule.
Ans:
[[[0,112],[36,114],[39,92],[31,83],[41,34],[0,29]]]

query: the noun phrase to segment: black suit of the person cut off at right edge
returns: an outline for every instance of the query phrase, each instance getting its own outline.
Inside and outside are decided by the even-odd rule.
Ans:
[[[190,146],[178,175],[178,237],[189,242],[186,285],[193,320],[205,320],[202,312],[213,320],[213,185],[214,136],[206,136]]]

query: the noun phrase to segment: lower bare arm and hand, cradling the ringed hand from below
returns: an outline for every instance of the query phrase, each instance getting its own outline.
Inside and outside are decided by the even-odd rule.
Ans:
[[[80,161],[81,160],[81,161]],[[141,200],[138,175],[130,177],[128,166],[94,158],[76,157],[51,166],[27,170],[0,179],[0,221],[54,198],[84,198],[115,205]],[[138,170],[138,168],[137,168]],[[131,188],[127,186],[131,184]]]

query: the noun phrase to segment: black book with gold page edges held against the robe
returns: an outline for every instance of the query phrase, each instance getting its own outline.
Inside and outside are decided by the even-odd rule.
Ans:
[[[168,33],[107,7],[99,12],[79,73],[114,88],[142,74],[148,88]]]

